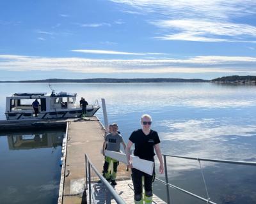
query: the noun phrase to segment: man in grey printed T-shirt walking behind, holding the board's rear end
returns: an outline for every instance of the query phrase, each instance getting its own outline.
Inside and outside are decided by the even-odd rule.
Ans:
[[[112,129],[113,132],[109,133],[105,137],[105,141],[103,143],[102,147],[102,154],[105,156],[105,148],[106,145],[108,145],[107,150],[114,151],[114,152],[120,152],[120,144],[124,146],[125,150],[125,143],[120,134],[118,134],[118,125],[116,123],[112,124]],[[109,165],[111,164],[111,161],[113,162],[113,172],[109,170]],[[117,172],[117,166],[119,162],[115,159],[112,159],[111,157],[105,156],[105,162],[103,166],[103,173],[104,177],[110,181],[111,180],[111,185],[115,186],[116,185],[116,172]]]

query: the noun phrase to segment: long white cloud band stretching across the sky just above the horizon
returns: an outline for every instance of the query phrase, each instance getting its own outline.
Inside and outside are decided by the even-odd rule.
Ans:
[[[79,51],[80,52],[80,51]],[[89,53],[120,54],[107,50]],[[132,54],[125,52],[125,54]],[[136,53],[134,53],[136,54]],[[145,54],[143,54],[145,55]],[[87,59],[0,55],[0,69],[11,71],[72,71],[81,73],[250,73],[256,57],[198,56],[188,59]]]

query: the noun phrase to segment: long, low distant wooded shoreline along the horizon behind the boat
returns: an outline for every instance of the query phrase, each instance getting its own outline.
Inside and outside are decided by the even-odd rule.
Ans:
[[[184,78],[87,78],[87,79],[49,78],[45,80],[0,81],[0,83],[159,83],[159,82],[209,82],[209,80],[184,79]]]

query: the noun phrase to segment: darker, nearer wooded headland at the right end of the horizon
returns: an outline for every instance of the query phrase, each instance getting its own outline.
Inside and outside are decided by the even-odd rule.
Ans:
[[[228,76],[228,77],[220,77],[214,78],[211,80],[212,82],[220,82],[220,83],[239,83],[239,84],[255,84],[256,76]]]

